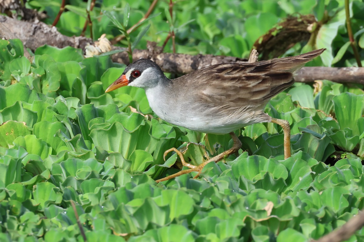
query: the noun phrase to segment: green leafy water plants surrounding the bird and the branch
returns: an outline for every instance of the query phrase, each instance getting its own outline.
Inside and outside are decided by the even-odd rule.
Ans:
[[[88,5],[68,1],[58,30],[82,31]],[[130,2],[128,26],[150,1]],[[324,24],[314,41],[286,54],[327,51],[312,65],[356,65],[349,48],[343,1],[176,1],[173,17],[160,1],[147,21],[147,40],[176,34],[179,53],[248,57],[253,43],[282,18],[314,14]],[[95,38],[120,34],[100,10],[120,22],[126,1],[99,2],[90,13]],[[32,0],[51,23],[58,1]],[[350,1],[359,54],[364,47],[363,1]],[[168,20],[168,21],[167,21]],[[130,34],[131,41],[145,26]],[[90,34],[87,30],[86,34]],[[127,41],[122,41],[122,45]],[[165,51],[171,51],[171,41]],[[104,93],[124,66],[110,57],[84,58],[82,50],[42,46],[31,60],[19,40],[0,40],[0,240],[1,241],[309,241],[340,227],[363,208],[363,86],[328,80],[296,83],[266,106],[291,124],[293,156],[283,160],[276,124],[245,127],[239,156],[209,163],[201,179],[175,173],[171,147],[190,145],[199,164],[228,149],[230,136],[204,135],[171,126],[154,115],[142,89]],[[362,61],[363,63],[363,61]],[[74,201],[74,202],[73,202]],[[72,207],[75,205],[75,209]],[[359,230],[348,241],[363,241]]]

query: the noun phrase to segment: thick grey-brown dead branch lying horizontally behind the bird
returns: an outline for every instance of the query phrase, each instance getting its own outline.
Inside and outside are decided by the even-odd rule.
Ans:
[[[16,28],[13,28],[16,26]],[[93,41],[86,37],[68,37],[59,33],[55,27],[40,21],[26,22],[0,15],[0,38],[19,38],[31,50],[43,45],[63,48],[72,46],[84,50]],[[195,55],[161,53],[160,47],[150,43],[146,50],[134,50],[133,61],[148,58],[157,62],[165,72],[186,74],[204,66],[219,63],[246,63],[247,60],[231,56]],[[113,50],[121,49],[113,46]],[[112,56],[114,62],[129,64],[128,54],[120,52]],[[364,85],[364,67],[303,67],[296,76],[296,82],[313,82],[328,79],[339,83],[359,83]]]

